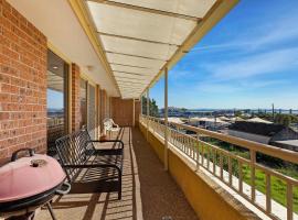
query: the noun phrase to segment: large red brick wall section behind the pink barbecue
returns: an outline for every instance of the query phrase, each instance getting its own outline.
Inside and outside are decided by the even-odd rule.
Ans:
[[[0,0],[0,164],[23,147],[46,151],[46,37]]]

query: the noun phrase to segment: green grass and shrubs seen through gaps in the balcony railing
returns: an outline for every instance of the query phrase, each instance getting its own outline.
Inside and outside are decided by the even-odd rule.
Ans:
[[[226,151],[230,151],[233,154],[238,155],[241,157],[249,158],[249,152],[247,150],[241,148],[238,146],[234,146],[230,143],[223,143],[216,140],[210,140],[209,143],[220,146]],[[219,158],[216,158],[216,164],[219,165],[217,160]],[[258,163],[264,163],[265,166],[270,167],[278,173],[281,173],[284,175],[298,179],[298,169],[297,169],[297,166],[295,165],[284,165],[284,163],[278,160],[275,161],[275,160],[270,160],[266,157],[263,158],[262,161],[259,160]],[[233,175],[238,176],[238,168],[240,167],[238,167],[237,162],[233,160],[232,162]],[[224,169],[227,170],[227,160],[224,161]],[[252,185],[251,167],[248,165],[243,165],[242,170],[243,170],[243,180],[246,184]],[[287,204],[286,183],[276,176],[270,177],[270,183],[272,183],[272,188],[270,188],[272,198],[278,204],[286,206]],[[262,172],[260,169],[255,170],[255,185],[258,191],[266,194],[266,176],[265,176],[265,173]],[[294,212],[298,213],[298,187],[294,187],[292,193],[294,193]]]

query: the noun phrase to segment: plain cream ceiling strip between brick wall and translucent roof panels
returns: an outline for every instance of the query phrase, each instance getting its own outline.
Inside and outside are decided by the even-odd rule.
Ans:
[[[46,37],[65,62],[76,63],[88,79],[100,85],[109,96],[119,96],[113,77],[98,56],[82,29],[67,0],[8,0]],[[50,47],[51,48],[51,47]],[[50,61],[51,62],[51,61]],[[88,68],[88,67],[92,68]]]

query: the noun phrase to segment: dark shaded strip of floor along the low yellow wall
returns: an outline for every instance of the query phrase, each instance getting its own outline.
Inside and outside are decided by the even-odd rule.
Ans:
[[[167,216],[174,220],[198,219],[183,193],[170,174],[164,172],[162,163],[140,130],[132,128],[131,131],[131,147],[139,169],[143,219],[162,219]]]

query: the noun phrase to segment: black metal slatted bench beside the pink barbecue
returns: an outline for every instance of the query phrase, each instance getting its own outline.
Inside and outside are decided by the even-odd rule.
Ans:
[[[106,142],[114,143],[113,147],[95,147],[96,143]],[[56,140],[56,151],[72,185],[85,169],[83,176],[91,174],[86,182],[96,180],[96,191],[118,191],[118,199],[121,199],[124,143],[120,140],[92,140],[83,129]]]

